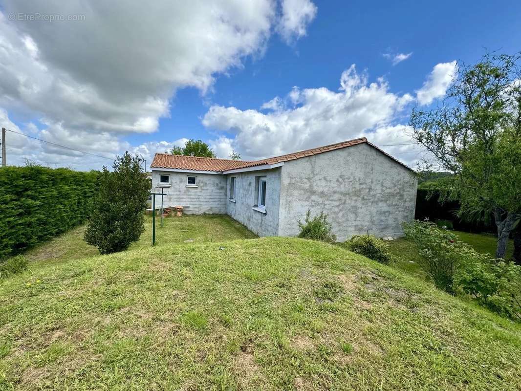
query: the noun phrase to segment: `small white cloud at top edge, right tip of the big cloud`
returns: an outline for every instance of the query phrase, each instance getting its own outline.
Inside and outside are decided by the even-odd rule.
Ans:
[[[291,43],[306,35],[306,27],[315,18],[317,7],[310,0],[282,0],[282,17],[278,31]]]

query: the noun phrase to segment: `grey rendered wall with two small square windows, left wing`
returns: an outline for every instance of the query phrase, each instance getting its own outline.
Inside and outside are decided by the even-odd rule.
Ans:
[[[157,187],[159,175],[170,175],[170,187],[164,187],[167,196],[163,197],[165,207],[181,205],[184,213],[226,213],[226,177],[220,174],[188,174],[160,170],[152,170],[152,186],[155,192],[160,193]],[[187,187],[187,176],[197,176],[197,187]],[[160,197],[156,196],[156,207]]]

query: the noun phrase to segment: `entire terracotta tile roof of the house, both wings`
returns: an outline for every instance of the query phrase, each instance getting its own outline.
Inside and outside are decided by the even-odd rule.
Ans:
[[[246,162],[240,160],[227,160],[227,159],[215,159],[211,157],[195,157],[195,156],[180,156],[180,155],[171,155],[169,153],[156,153],[154,156],[154,160],[152,161],[152,168],[177,168],[177,169],[188,169],[188,170],[199,170],[199,171],[216,171],[216,172],[226,172],[232,169],[237,168],[248,168],[255,166],[262,166],[266,164],[277,164],[282,162],[288,162],[290,160],[295,160],[305,156],[318,155],[319,153],[334,151],[337,149],[348,148],[349,146],[358,145],[358,144],[368,144],[373,148],[377,149],[384,155],[387,155],[395,162],[401,164],[402,166],[410,169],[405,164],[396,160],[394,157],[389,155],[388,153],[379,149],[376,145],[371,144],[367,141],[365,137],[337,142],[335,144],[319,146],[318,148],[307,149],[304,151],[288,153],[287,155],[268,157],[263,160],[256,160],[253,162]]]

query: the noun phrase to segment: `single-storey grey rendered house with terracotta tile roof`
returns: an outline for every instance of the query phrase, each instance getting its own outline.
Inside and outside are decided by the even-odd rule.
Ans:
[[[154,191],[185,213],[228,214],[259,236],[296,236],[324,211],[338,240],[400,236],[414,218],[415,172],[366,138],[246,162],[156,153]]]

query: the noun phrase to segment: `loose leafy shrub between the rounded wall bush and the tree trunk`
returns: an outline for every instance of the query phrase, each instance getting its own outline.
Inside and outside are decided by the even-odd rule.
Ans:
[[[418,265],[439,289],[453,294],[454,273],[474,250],[457,240],[456,235],[428,221],[404,223],[403,231],[418,249]]]

